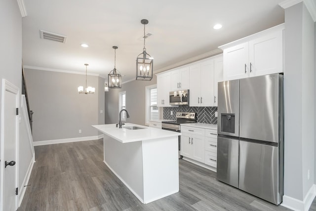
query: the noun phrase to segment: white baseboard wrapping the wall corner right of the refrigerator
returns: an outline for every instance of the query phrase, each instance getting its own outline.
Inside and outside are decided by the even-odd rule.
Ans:
[[[316,184],[312,185],[303,201],[284,195],[281,206],[293,211],[308,211],[313,203],[315,196]]]

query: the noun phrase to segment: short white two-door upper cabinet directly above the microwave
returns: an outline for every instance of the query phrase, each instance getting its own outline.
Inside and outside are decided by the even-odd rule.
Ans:
[[[181,67],[171,71],[171,90],[189,89],[189,67]]]

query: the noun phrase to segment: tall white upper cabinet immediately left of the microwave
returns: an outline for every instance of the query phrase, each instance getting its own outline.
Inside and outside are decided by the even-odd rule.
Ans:
[[[171,89],[170,72],[157,75],[157,106],[169,107],[169,91]]]

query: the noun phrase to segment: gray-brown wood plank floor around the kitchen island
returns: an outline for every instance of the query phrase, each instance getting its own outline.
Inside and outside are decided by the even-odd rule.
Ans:
[[[219,182],[215,172],[184,160],[179,160],[180,191],[144,205],[103,163],[102,140],[36,146],[35,152],[18,211],[288,210]],[[315,205],[316,200],[311,210]]]

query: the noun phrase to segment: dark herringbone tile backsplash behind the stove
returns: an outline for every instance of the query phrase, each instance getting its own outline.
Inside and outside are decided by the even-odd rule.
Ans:
[[[173,115],[171,115],[171,111]],[[215,111],[217,107],[190,107],[188,105],[182,105],[179,107],[164,107],[163,119],[176,120],[177,112],[195,112],[197,113],[197,122],[217,125],[217,117],[215,117]]]

